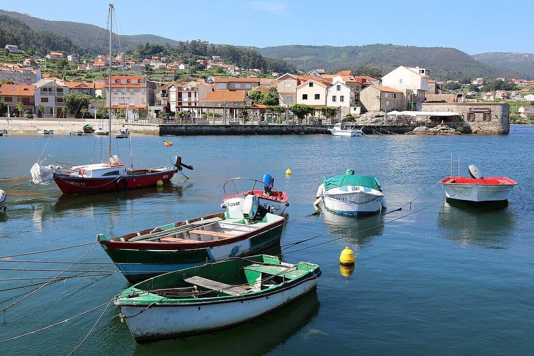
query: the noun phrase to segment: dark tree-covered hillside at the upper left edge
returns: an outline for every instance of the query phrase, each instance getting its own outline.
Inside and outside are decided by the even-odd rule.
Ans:
[[[34,31],[18,19],[0,15],[0,48],[16,44],[20,49],[37,55],[50,51],[77,52],[80,49],[67,37],[49,31]]]

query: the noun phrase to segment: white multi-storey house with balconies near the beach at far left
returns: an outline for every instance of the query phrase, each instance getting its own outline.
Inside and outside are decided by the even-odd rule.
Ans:
[[[38,112],[39,118],[63,118],[67,113],[63,111],[63,96],[68,94],[65,82],[53,79],[41,79],[35,83],[35,107],[44,106],[43,112]]]

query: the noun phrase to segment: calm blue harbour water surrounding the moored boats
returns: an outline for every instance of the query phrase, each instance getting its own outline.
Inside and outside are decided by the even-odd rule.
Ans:
[[[98,233],[121,235],[220,210],[222,184],[235,176],[275,177],[290,207],[282,245],[325,234],[284,250],[290,262],[311,261],[323,276],[317,292],[271,315],[232,330],[181,340],[136,345],[110,306],[78,354],[93,355],[309,355],[309,354],[532,354],[534,352],[534,128],[514,127],[503,136],[199,136],[167,137],[192,163],[191,179],[172,184],[82,197],[60,197],[55,184],[10,189],[7,213],[0,213],[0,254],[38,251],[95,241]],[[48,137],[0,137],[0,187],[23,181]],[[96,161],[100,138],[50,138],[44,154],[65,162]],[[57,145],[56,145],[57,144]],[[127,142],[119,152],[127,160]],[[115,148],[115,147],[114,147]],[[105,152],[105,150],[104,150]],[[475,163],[485,175],[519,182],[508,206],[476,211],[438,203],[386,226],[444,197],[441,187],[401,212],[355,219],[313,212],[323,175],[354,168],[376,176],[390,211],[449,174],[450,152],[462,159],[462,173]],[[161,137],[133,138],[137,167],[167,165]],[[106,154],[104,153],[104,156]],[[293,175],[286,177],[286,168]],[[15,201],[17,200],[17,201]],[[343,237],[354,234],[351,237]],[[341,237],[318,247],[297,248]],[[339,254],[356,253],[351,276],[341,274]],[[74,261],[90,246],[13,258]],[[95,247],[83,261],[109,262]],[[0,262],[0,268],[62,269],[67,265]],[[115,270],[113,265],[73,269]],[[0,270],[0,278],[52,277],[59,272]],[[41,280],[0,281],[8,289]],[[72,278],[34,293],[0,316],[0,339],[64,320],[105,303],[128,286],[121,274]],[[6,306],[30,289],[0,292]],[[7,354],[66,354],[81,342],[103,309],[66,324],[0,344]]]

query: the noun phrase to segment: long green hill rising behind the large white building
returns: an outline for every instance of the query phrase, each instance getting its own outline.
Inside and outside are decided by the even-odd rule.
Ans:
[[[286,45],[254,48],[271,58],[284,58],[303,71],[324,68],[326,71],[354,69],[360,65],[379,67],[384,73],[399,65],[430,69],[438,80],[513,76],[514,71],[483,64],[460,50],[445,47],[414,47],[394,44],[364,46]]]

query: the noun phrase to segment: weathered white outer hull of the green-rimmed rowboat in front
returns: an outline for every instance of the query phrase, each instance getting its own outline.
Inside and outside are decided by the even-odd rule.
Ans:
[[[214,303],[132,306],[115,303],[126,316],[138,343],[186,337],[222,330],[259,318],[317,288],[317,275],[287,288],[251,297]],[[143,313],[140,313],[143,311]],[[130,315],[136,315],[128,318]]]

